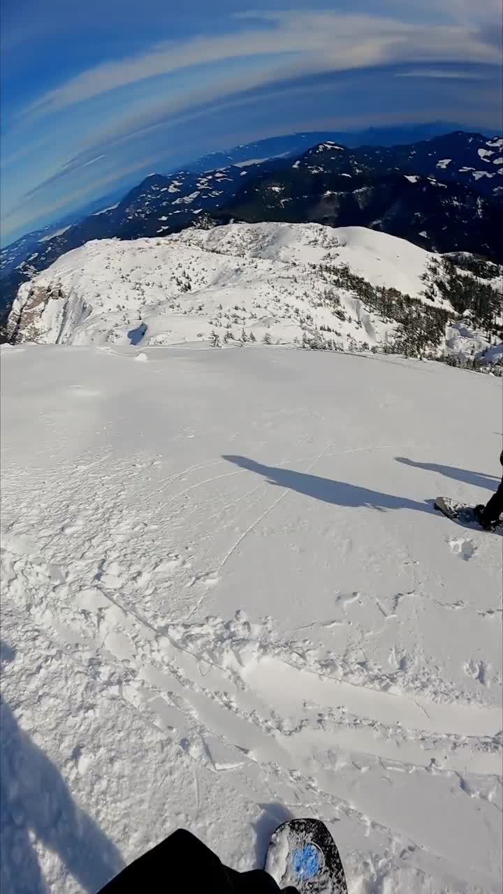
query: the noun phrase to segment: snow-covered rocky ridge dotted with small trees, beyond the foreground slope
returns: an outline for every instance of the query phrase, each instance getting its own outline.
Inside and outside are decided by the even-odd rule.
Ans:
[[[230,224],[165,239],[89,242],[21,286],[9,325],[16,341],[170,344],[266,332],[292,343],[334,331],[368,346],[395,326],[339,291],[346,319],[327,306],[322,265],[347,265],[374,285],[419,297],[434,255],[362,227]],[[314,266],[313,266],[314,265]],[[436,307],[447,306],[441,299]]]

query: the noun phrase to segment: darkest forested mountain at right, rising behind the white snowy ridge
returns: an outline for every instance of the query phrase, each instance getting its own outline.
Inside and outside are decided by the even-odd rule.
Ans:
[[[262,173],[246,182],[219,217],[223,222],[365,226],[424,249],[473,251],[499,260],[501,200],[494,192],[498,188],[493,187],[491,196],[484,197],[482,178],[468,187],[457,177],[463,176],[466,166],[462,164],[460,170],[460,144],[465,143],[472,153],[486,154],[485,164],[499,164],[486,173],[501,180],[503,161],[498,154],[503,140],[485,140],[485,148],[481,148],[478,139],[476,149],[472,148],[475,139],[453,134],[450,139],[439,138],[440,147],[423,143],[393,149],[348,149],[334,142],[321,143],[288,169]],[[449,142],[457,149],[457,162],[439,159]]]

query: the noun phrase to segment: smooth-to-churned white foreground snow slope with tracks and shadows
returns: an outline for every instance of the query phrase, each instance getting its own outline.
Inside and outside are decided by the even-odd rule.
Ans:
[[[260,346],[2,366],[3,894],[94,892],[178,826],[249,868],[304,814],[351,894],[499,892],[501,537],[426,502],[495,489],[498,380]]]

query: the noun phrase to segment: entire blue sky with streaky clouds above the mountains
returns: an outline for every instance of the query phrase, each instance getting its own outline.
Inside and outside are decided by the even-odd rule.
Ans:
[[[4,244],[279,133],[501,128],[500,0],[3,0],[1,38]]]

